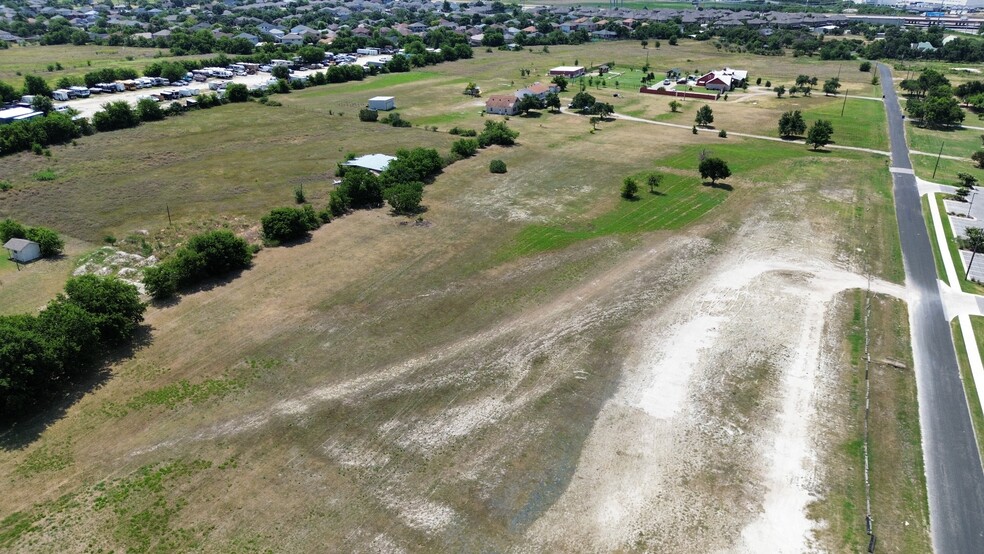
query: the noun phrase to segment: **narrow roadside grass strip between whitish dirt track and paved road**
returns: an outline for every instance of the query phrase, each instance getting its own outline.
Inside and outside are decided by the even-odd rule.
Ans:
[[[842,369],[829,401],[833,423],[825,424],[833,429],[828,440],[836,448],[825,460],[827,494],[812,510],[829,524],[817,533],[831,551],[864,552],[868,545],[863,457],[865,295],[853,291],[842,298],[838,323],[829,331],[842,345]],[[880,550],[929,552],[929,507],[907,310],[904,302],[881,296],[872,298],[871,308],[869,460],[874,531]],[[886,359],[906,368],[881,362]]]

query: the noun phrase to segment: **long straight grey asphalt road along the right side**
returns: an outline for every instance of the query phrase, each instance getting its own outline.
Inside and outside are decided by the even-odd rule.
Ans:
[[[878,64],[878,71],[885,93],[892,167],[896,168],[892,172],[895,210],[902,239],[906,285],[911,295],[912,349],[919,387],[933,549],[939,554],[980,554],[984,552],[984,470],[960,382],[950,325],[943,315],[936,265],[916,179],[911,173],[909,148],[892,74],[882,64]],[[873,471],[878,471],[877,465]],[[878,523],[875,522],[876,533]]]

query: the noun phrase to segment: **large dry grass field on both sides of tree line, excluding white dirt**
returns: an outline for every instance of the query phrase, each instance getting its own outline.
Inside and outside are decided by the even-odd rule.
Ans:
[[[525,82],[520,68],[544,79],[576,58],[621,66],[646,55],[635,43],[550,50],[476,52],[426,72],[278,96],[281,107],[225,106],[97,134],[50,159],[6,157],[15,189],[0,193],[0,217],[54,227],[70,247],[61,265],[32,264],[16,281],[4,273],[0,311],[42,306],[106,235],[147,237],[166,251],[158,237],[180,240],[167,208],[176,228],[228,226],[255,239],[259,217],[292,204],[297,185],[323,206],[347,153],[445,153],[457,138],[450,126],[486,121],[482,99],[462,94],[468,81],[487,96]],[[686,42],[650,56],[787,81],[837,68]],[[395,96],[414,127],[359,122],[358,106],[375,94]],[[729,130],[771,128],[791,102],[764,99],[715,111]],[[665,111],[664,100],[638,94],[612,102]],[[848,103],[855,108],[866,109]],[[360,211],[308,242],[263,249],[232,282],[151,307],[135,351],[0,434],[0,550],[387,548],[378,537],[423,551],[528,546],[529,526],[573,479],[640,321],[744,248],[749,229],[797,255],[902,280],[884,156],[631,121],[592,132],[587,118],[568,115],[508,125],[519,144],[447,167],[426,189],[423,222]],[[733,190],[698,182],[701,151],[728,160]],[[490,174],[492,159],[509,171]],[[47,167],[56,180],[31,177]],[[641,200],[619,197],[624,177],[650,171],[667,176],[662,195],[643,185]],[[794,223],[808,232],[791,233]],[[886,310],[880,328],[895,329],[902,316]],[[885,352],[894,353],[890,335]],[[725,384],[725,397],[749,388]],[[911,405],[879,405],[911,416]],[[897,452],[906,468],[914,463],[901,446],[878,455]]]

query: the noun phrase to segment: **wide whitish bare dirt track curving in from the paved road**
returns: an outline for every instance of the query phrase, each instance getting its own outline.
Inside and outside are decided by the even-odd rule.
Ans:
[[[571,486],[530,530],[533,544],[810,549],[824,315],[836,293],[868,281],[817,258],[783,258],[727,256],[643,325]],[[905,293],[880,281],[872,289]],[[757,387],[744,390],[757,407],[728,397],[736,382]]]

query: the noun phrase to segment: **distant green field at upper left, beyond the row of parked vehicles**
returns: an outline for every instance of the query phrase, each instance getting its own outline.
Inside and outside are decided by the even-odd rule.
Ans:
[[[0,81],[20,87],[24,75],[44,77],[52,85],[62,77],[81,77],[90,71],[106,67],[125,67],[143,72],[155,61],[199,59],[210,56],[171,56],[159,48],[127,46],[11,46],[0,50]],[[48,71],[49,65],[61,63],[63,69]]]

